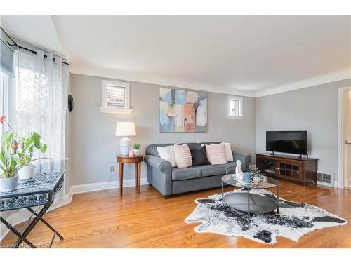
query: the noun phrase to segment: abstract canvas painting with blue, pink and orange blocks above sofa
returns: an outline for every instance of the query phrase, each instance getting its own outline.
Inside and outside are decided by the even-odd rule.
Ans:
[[[159,131],[201,133],[207,131],[207,93],[159,89]]]

